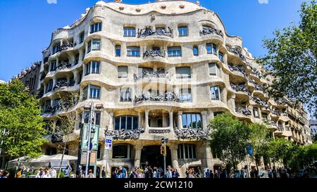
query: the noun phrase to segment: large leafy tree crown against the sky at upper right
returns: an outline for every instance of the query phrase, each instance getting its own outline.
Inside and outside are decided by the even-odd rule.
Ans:
[[[268,54],[260,60],[273,76],[269,94],[287,96],[308,103],[311,113],[317,116],[317,4],[304,2],[299,11],[299,25],[292,24],[275,30],[272,39],[264,39]]]

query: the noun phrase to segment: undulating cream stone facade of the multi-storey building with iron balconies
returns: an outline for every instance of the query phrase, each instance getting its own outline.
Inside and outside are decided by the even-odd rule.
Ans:
[[[108,172],[144,165],[163,136],[170,141],[170,165],[182,177],[187,167],[221,165],[208,144],[208,123],[225,111],[248,122],[268,121],[272,136],[293,138],[284,129],[290,120],[278,110],[297,109],[268,97],[264,87],[271,80],[261,77],[242,38],[229,35],[218,15],[199,3],[99,1],[73,25],[54,31],[43,58],[37,92],[46,120],[56,122],[63,113],[47,110],[58,96],[80,93],[71,109],[78,122],[69,154],[78,154],[80,117],[92,101],[102,105],[97,165],[106,166],[105,132],[116,136],[114,146],[127,146],[121,149],[128,155],[110,153]],[[297,141],[308,143],[302,133]]]

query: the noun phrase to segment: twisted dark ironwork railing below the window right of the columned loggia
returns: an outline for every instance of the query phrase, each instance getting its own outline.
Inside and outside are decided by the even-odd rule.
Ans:
[[[178,140],[189,139],[189,140],[208,140],[210,139],[210,129],[204,131],[203,129],[179,129],[174,128],[175,136]]]

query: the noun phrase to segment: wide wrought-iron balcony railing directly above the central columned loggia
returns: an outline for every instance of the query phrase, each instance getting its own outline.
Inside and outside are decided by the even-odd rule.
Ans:
[[[142,94],[142,96],[135,96],[135,103],[142,103],[143,101],[175,101],[180,102],[180,98],[174,92],[167,92],[162,94]]]

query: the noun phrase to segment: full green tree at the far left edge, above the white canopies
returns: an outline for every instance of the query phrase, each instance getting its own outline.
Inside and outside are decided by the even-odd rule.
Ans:
[[[20,80],[0,84],[0,141],[1,149],[11,157],[42,155],[41,146],[46,141],[44,122],[39,103]],[[2,134],[5,133],[5,134]]]

